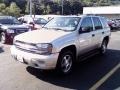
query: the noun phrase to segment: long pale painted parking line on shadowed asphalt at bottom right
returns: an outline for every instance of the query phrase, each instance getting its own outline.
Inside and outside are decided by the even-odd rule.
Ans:
[[[109,73],[107,73],[102,79],[100,79],[89,90],[97,90],[110,76],[112,76],[120,68],[120,63],[116,65]]]

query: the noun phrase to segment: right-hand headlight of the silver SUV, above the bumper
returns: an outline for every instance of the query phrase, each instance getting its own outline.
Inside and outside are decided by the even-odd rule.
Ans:
[[[36,44],[36,47],[40,54],[51,54],[52,53],[52,44],[49,43],[40,43]]]

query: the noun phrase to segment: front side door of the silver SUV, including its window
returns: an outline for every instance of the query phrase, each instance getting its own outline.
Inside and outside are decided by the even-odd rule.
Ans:
[[[92,50],[92,31],[92,18],[83,18],[79,29],[79,54],[83,54]]]

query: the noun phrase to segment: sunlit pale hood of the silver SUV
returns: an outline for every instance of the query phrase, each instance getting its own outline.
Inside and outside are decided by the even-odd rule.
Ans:
[[[20,34],[15,37],[15,40],[27,43],[51,43],[52,41],[70,34],[71,32],[57,31],[57,30],[35,30]]]

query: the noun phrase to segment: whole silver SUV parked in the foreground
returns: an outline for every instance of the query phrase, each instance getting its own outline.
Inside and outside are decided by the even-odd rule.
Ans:
[[[110,34],[103,17],[60,16],[41,30],[16,36],[11,54],[17,61],[34,68],[56,69],[68,74],[75,61],[85,59],[94,51],[104,54]],[[78,56],[81,58],[77,59]]]

